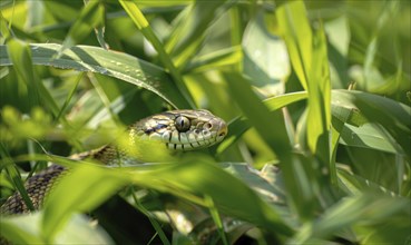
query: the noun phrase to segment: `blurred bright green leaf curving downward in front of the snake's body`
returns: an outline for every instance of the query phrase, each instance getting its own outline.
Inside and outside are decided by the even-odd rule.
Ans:
[[[48,242],[53,241],[72,213],[91,210],[127,182],[126,176],[114,169],[87,165],[70,169],[47,197],[41,220],[42,236]]]

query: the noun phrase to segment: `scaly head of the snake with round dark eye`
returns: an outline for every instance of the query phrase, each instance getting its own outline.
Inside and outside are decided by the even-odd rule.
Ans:
[[[168,149],[193,150],[222,141],[227,130],[226,122],[208,110],[169,110],[139,120],[131,134]]]

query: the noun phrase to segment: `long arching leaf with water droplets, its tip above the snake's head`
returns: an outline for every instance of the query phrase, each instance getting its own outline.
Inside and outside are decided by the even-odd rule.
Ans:
[[[88,46],[72,47],[67,49],[60,58],[53,59],[60,48],[61,46],[52,43],[31,45],[33,65],[111,76],[153,91],[176,108],[187,108],[168,75],[151,63],[126,53]],[[1,66],[10,66],[11,60],[4,46],[0,46],[0,55]]]

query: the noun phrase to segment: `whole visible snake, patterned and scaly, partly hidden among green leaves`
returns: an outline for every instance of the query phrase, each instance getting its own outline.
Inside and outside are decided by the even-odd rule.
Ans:
[[[169,110],[140,119],[128,127],[130,143],[158,143],[170,151],[187,151],[209,147],[224,139],[227,135],[227,124],[208,110]],[[130,161],[127,150],[112,144],[98,149],[72,155],[70,158],[81,160],[91,158],[104,165]],[[47,194],[51,192],[59,178],[69,169],[51,164],[50,167],[29,177],[25,188],[35,209],[40,209]],[[19,192],[12,194],[0,207],[0,214],[13,215],[29,213]]]

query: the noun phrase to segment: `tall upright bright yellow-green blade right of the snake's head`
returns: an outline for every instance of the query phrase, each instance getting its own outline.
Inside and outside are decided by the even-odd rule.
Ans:
[[[281,6],[277,14],[294,70],[303,88],[309,91],[307,145],[323,165],[329,165],[331,159],[329,147],[331,82],[323,27],[320,26],[314,32],[311,30],[302,1]],[[333,182],[336,183],[335,166],[329,165],[327,168]]]

